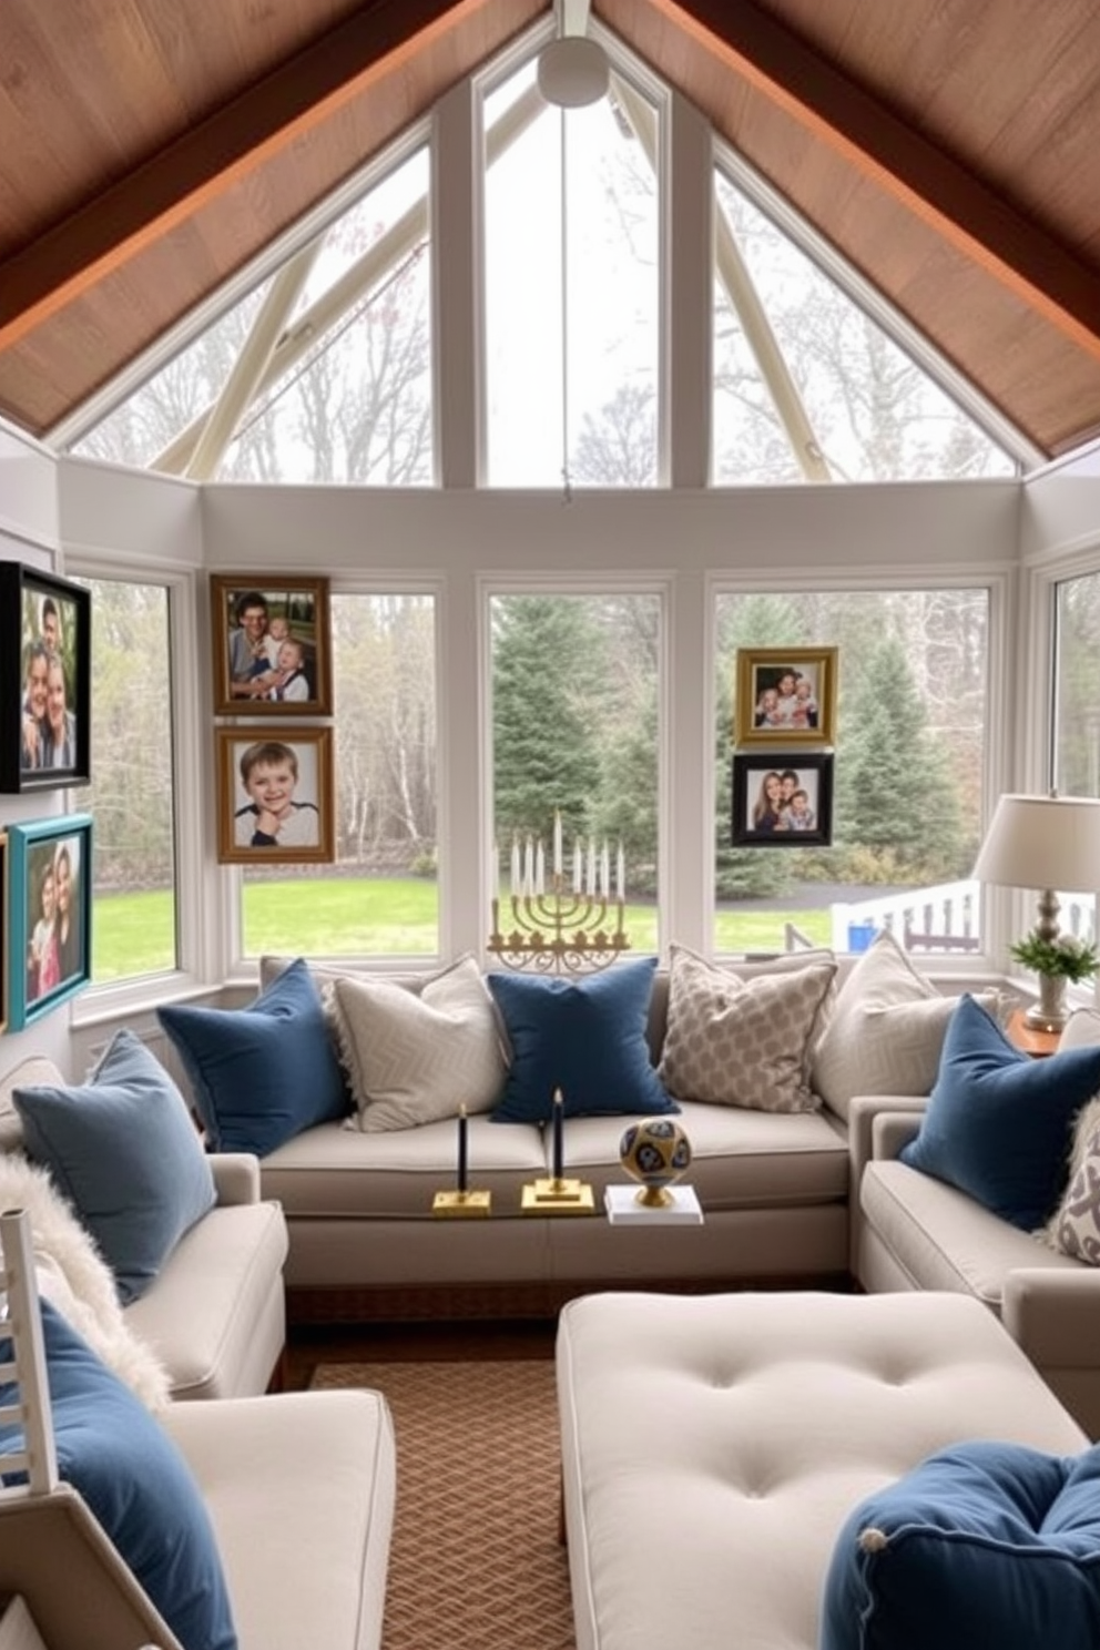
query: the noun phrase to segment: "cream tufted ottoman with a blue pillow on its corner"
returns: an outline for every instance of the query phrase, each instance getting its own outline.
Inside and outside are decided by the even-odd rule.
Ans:
[[[963,1437],[1087,1444],[965,1295],[587,1295],[557,1332],[577,1650],[815,1650],[853,1506]]]

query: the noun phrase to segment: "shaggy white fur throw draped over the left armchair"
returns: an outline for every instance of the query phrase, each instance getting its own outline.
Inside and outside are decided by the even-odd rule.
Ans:
[[[30,1214],[38,1292],[148,1409],[163,1409],[168,1376],[152,1348],[127,1328],[110,1269],[46,1170],[0,1152],[0,1209]]]

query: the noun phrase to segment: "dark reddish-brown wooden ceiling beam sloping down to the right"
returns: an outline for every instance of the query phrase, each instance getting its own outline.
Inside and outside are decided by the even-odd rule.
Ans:
[[[651,0],[1100,360],[1100,272],[747,0]]]

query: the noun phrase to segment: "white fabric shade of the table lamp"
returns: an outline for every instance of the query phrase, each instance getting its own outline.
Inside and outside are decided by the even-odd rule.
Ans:
[[[1095,893],[1100,889],[1100,800],[1001,797],[975,876],[1004,888]]]

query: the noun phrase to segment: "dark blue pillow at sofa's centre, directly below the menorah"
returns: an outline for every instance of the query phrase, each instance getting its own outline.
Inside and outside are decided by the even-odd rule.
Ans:
[[[656,957],[579,980],[490,974],[511,1066],[495,1122],[548,1122],[554,1089],[566,1117],[655,1117],[679,1107],[661,1087],[645,1025]]]

